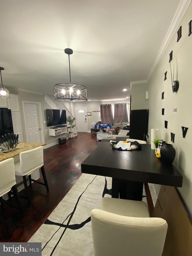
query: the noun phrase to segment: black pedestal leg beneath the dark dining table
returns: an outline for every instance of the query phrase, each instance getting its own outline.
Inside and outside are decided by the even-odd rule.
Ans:
[[[143,182],[112,178],[112,197],[142,201]]]

